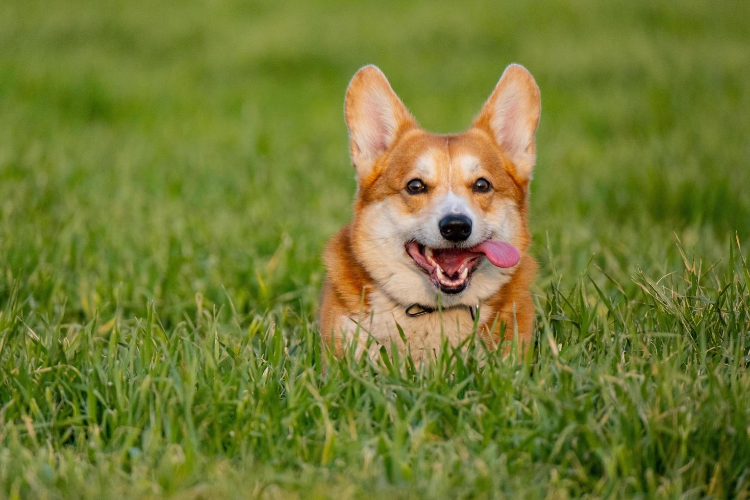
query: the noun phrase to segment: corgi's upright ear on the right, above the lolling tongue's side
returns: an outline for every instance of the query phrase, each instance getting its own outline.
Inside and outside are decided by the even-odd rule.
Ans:
[[[540,113],[534,77],[520,64],[511,64],[474,121],[474,126],[487,130],[513,161],[521,181],[528,181],[534,168],[534,134]]]

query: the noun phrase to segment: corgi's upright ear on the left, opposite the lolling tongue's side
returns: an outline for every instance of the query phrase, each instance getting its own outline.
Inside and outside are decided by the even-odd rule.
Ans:
[[[386,75],[372,64],[357,71],[349,83],[344,118],[358,179],[371,173],[375,160],[389,151],[400,133],[416,127]]]

